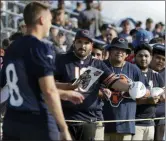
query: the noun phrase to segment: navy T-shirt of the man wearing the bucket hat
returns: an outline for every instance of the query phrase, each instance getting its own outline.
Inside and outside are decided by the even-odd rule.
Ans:
[[[112,67],[109,60],[106,60],[105,63],[110,68],[110,70],[114,71],[116,74],[125,74],[133,81],[141,81],[145,83],[145,79],[142,77],[141,71],[136,65],[126,62],[123,68],[121,68]],[[122,98],[122,96],[117,97],[116,100],[117,102],[121,102],[117,107],[112,107],[108,101],[105,101],[103,107],[104,120],[135,119],[136,101],[129,98]],[[134,134],[135,122],[106,123],[105,132]]]

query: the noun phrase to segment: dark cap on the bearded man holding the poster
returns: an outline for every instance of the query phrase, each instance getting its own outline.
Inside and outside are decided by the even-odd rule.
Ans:
[[[75,40],[80,38],[87,38],[91,42],[93,42],[92,35],[89,30],[78,30],[75,36]]]

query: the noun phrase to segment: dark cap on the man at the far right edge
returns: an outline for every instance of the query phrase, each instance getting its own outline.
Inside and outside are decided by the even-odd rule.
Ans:
[[[165,45],[163,44],[153,45],[153,54],[159,54],[165,56]]]

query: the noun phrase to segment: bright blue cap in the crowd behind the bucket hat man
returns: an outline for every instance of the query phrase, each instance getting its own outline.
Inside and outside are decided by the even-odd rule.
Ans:
[[[150,39],[150,32],[144,29],[140,29],[136,32],[135,40],[133,40],[132,44],[134,47],[137,47],[142,43],[149,43]]]

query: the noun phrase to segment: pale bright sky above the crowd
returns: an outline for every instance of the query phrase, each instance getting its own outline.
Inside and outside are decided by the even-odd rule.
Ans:
[[[102,7],[103,16],[114,20],[132,17],[144,22],[151,17],[165,23],[165,1],[102,1]]]

